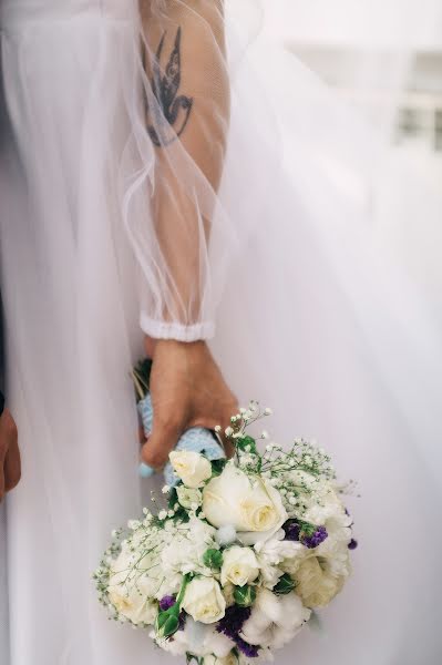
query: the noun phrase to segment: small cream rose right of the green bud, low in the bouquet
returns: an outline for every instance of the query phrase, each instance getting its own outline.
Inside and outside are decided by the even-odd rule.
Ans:
[[[216,580],[194,577],[187,584],[182,607],[195,621],[209,624],[223,618],[226,601]]]

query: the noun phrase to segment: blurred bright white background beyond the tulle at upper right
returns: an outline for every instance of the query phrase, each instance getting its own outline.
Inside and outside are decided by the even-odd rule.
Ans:
[[[442,287],[442,2],[263,0],[263,6],[266,39],[299,58],[380,130],[371,223],[380,248],[399,257],[423,287],[423,297],[436,301]]]

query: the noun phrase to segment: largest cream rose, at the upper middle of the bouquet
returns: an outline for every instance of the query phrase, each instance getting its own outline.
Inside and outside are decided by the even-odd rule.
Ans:
[[[233,525],[238,540],[248,545],[267,540],[287,520],[279,492],[264,479],[249,479],[233,463],[204,488],[203,511],[214,526]]]

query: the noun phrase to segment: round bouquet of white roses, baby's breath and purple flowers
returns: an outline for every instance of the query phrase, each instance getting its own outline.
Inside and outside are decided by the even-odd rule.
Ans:
[[[248,427],[269,413],[250,402],[232,418],[229,461],[171,452],[164,507],[153,499],[113,532],[94,574],[113,618],[187,662],[269,659],[350,575],[352,521],[330,458],[304,440],[260,452]]]

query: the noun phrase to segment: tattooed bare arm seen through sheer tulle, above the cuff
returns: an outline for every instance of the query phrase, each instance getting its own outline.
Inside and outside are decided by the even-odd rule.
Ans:
[[[222,3],[207,0],[158,7],[143,13],[152,212],[177,307],[191,305],[196,317],[228,133],[224,17]]]

